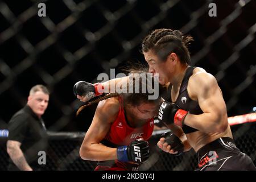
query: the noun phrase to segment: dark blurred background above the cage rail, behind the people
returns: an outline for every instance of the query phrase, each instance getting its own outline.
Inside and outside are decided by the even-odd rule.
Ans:
[[[38,3],[46,3],[46,17]],[[217,16],[208,15],[209,3]],[[27,102],[30,88],[46,85],[43,118],[52,131],[86,131],[97,105],[75,117],[80,80],[141,61],[141,41],[155,28],[179,29],[195,41],[192,65],[217,78],[228,116],[256,106],[255,1],[0,1],[0,129]],[[117,71],[118,73],[118,71]]]

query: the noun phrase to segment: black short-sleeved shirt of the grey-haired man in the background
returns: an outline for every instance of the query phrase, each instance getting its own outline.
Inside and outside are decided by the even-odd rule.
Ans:
[[[9,124],[8,140],[15,140],[21,144],[22,150],[27,163],[32,169],[40,169],[42,165],[38,164],[39,151],[47,152],[47,133],[43,119],[32,111],[26,105],[21,110],[13,115]],[[18,170],[15,164],[10,159],[9,170]]]

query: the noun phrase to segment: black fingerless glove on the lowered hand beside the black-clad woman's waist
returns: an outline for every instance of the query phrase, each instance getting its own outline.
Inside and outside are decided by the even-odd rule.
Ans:
[[[164,142],[168,143],[168,145],[171,146],[171,150],[174,150],[174,152],[177,151],[177,154],[174,155],[178,156],[184,151],[184,145],[181,142],[180,138],[171,133],[170,131],[163,133],[160,138],[164,138]]]

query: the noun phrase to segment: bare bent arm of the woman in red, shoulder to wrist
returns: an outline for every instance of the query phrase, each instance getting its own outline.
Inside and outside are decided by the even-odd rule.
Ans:
[[[117,159],[117,148],[106,147],[100,142],[108,133],[112,122],[117,117],[118,110],[118,100],[108,99],[98,104],[92,124],[80,148],[82,159],[94,161]]]

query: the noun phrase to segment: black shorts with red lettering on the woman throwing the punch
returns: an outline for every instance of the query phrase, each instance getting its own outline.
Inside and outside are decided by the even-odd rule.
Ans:
[[[197,152],[196,171],[255,171],[253,161],[242,153],[229,137],[222,137],[206,144]]]

